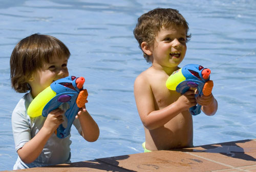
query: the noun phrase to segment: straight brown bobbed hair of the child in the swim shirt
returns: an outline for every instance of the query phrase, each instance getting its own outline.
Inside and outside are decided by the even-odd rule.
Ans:
[[[32,73],[52,57],[70,57],[68,47],[55,37],[33,34],[20,40],[10,58],[11,86],[17,92],[30,90]]]

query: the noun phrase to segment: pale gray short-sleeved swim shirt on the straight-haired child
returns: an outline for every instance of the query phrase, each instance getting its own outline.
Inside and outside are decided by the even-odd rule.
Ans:
[[[31,101],[33,100],[31,93],[26,93],[22,99],[18,102],[17,106],[12,113],[12,131],[15,142],[15,150],[18,151],[24,146],[29,140],[31,140],[42,128],[46,117],[29,117],[27,109]],[[64,111],[68,109],[68,104],[63,104],[60,107]],[[66,128],[67,118],[63,115],[65,120],[62,125]],[[73,122],[74,126],[81,133],[81,126],[78,119]],[[44,149],[37,159],[30,163],[24,163],[19,157],[13,166],[13,169],[24,169],[31,167],[48,166],[54,164],[70,163],[71,152],[70,152],[70,135],[66,138],[60,139],[55,134],[47,141]]]

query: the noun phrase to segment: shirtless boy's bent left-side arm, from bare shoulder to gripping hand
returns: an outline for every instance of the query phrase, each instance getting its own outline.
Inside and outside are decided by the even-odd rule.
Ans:
[[[138,76],[135,80],[134,95],[141,121],[148,130],[162,127],[182,111],[197,105],[195,92],[188,90],[176,102],[156,110],[150,83],[143,76]]]

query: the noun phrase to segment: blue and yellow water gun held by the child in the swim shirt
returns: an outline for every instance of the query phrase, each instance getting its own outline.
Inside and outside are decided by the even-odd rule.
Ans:
[[[35,97],[28,107],[28,115],[47,117],[52,110],[57,109],[63,103],[68,103],[69,109],[65,113],[68,125],[64,128],[60,124],[55,131],[58,138],[66,138],[70,134],[70,128],[79,109],[88,102],[88,92],[83,89],[84,81],[83,77],[74,76],[56,80]]]

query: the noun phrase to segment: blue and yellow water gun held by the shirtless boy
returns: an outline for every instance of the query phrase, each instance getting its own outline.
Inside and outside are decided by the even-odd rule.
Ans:
[[[191,87],[197,88],[198,95],[210,95],[214,83],[210,79],[210,69],[198,64],[187,64],[174,71],[166,81],[166,87],[170,90],[184,94]],[[201,113],[201,105],[189,108],[191,115]]]

